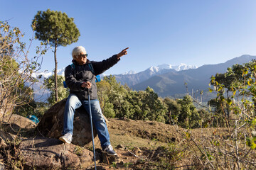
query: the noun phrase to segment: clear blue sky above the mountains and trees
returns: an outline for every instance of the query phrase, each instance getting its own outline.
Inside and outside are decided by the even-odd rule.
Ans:
[[[74,18],[80,38],[58,47],[58,69],[71,63],[82,45],[88,59],[100,61],[129,47],[128,55],[106,74],[141,72],[159,64],[201,66],[256,55],[255,0],[0,0],[0,20],[9,20],[31,38],[37,11],[62,11]],[[33,42],[31,49],[38,45]],[[34,56],[31,50],[30,55]],[[54,69],[53,52],[42,71]]]

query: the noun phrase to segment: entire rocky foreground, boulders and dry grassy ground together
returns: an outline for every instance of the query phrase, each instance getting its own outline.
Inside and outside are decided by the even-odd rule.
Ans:
[[[75,113],[73,142],[63,144],[58,140],[63,125],[63,105],[65,99],[51,107],[38,125],[21,115],[1,118],[0,169],[95,169],[85,111],[78,109]],[[246,146],[245,133],[249,133],[242,127],[190,130],[125,118],[108,119],[107,127],[117,156],[103,154],[95,135],[97,169],[256,167],[255,149]]]

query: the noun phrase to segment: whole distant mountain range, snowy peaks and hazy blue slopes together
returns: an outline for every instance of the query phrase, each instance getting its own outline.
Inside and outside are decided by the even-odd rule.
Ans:
[[[125,72],[124,74],[116,74],[114,77],[120,84],[127,84],[133,90],[145,90],[147,86],[154,89],[156,94],[161,97],[183,96],[188,91],[189,93],[200,93],[199,91],[207,91],[210,77],[216,73],[225,73],[228,67],[233,64],[242,64],[256,59],[256,56],[242,55],[235,57],[232,60],[220,64],[205,64],[201,67],[179,64],[172,66],[171,64],[161,64],[159,66],[149,67],[143,72],[135,73],[133,71]],[[58,74],[64,76],[64,70],[59,69]],[[53,75],[53,72],[40,72],[34,74],[34,77],[40,76],[39,82],[34,85],[36,98],[45,100],[49,96],[47,90],[40,89],[43,84],[43,79]],[[101,77],[106,76],[102,74]],[[185,86],[186,84],[186,86]],[[192,92],[193,91],[193,92]],[[43,96],[42,96],[43,93]]]

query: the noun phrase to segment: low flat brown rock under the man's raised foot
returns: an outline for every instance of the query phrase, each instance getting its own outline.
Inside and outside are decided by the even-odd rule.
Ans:
[[[85,169],[94,164],[93,152],[46,137],[23,140],[19,145],[24,169]],[[96,152],[96,161],[100,157]]]

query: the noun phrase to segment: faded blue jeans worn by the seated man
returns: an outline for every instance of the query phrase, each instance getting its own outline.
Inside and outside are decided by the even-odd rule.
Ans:
[[[102,111],[100,108],[100,102],[95,99],[91,100],[91,110],[92,110],[92,121],[97,130],[97,135],[100,139],[100,144],[102,148],[110,145],[110,134],[107,130],[107,124],[105,122],[105,118],[102,115]],[[64,128],[63,135],[66,133],[70,133],[73,135],[73,120],[75,115],[75,109],[83,106],[88,114],[90,114],[89,101],[80,101],[78,96],[75,94],[70,94],[68,96],[68,100],[65,103],[65,111],[64,111]]]

